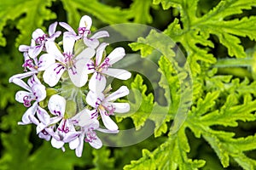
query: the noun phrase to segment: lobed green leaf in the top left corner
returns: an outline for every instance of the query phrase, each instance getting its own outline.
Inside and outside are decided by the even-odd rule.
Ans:
[[[2,31],[8,20],[17,22],[16,27],[20,30],[16,43],[18,45],[29,43],[32,31],[38,27],[42,28],[44,20],[55,19],[55,14],[48,8],[51,2],[52,0],[2,1],[0,3],[0,46],[6,45]],[[22,16],[23,14],[26,15]]]

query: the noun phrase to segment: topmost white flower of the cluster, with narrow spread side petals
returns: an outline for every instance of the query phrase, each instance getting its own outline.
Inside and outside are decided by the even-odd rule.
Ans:
[[[88,37],[88,35],[90,35],[91,24],[92,20],[90,16],[84,15],[79,22],[79,33],[77,35],[77,33],[73,30],[71,26],[69,26],[65,22],[60,22],[60,26],[67,29],[67,31],[69,31],[70,34],[73,35],[74,39],[78,40],[82,38],[84,40],[84,44],[87,47],[96,48],[100,44],[98,39],[102,37],[109,37],[109,34],[108,31],[98,31],[91,37]]]

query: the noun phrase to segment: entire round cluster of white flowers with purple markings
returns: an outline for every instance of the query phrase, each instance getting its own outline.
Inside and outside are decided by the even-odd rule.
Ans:
[[[31,45],[19,48],[24,73],[9,78],[25,89],[15,94],[15,99],[27,107],[18,124],[35,124],[39,138],[63,151],[68,143],[77,156],[82,155],[84,142],[101,148],[96,132],[118,133],[111,116],[130,110],[128,103],[114,102],[129,94],[128,88],[121,86],[110,93],[111,86],[107,86],[108,77],[131,77],[129,71],[111,68],[125,56],[125,49],[114,48],[107,55],[108,43],[98,39],[109,37],[108,31],[91,35],[91,24],[85,15],[78,33],[64,22],[51,24],[48,33],[33,31]],[[56,31],[57,26],[65,31]]]

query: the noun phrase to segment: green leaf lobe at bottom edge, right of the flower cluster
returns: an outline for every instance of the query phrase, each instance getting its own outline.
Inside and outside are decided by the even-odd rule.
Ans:
[[[143,157],[131,161],[124,169],[198,169],[203,167],[205,161],[191,160],[187,157],[189,152],[188,139],[182,127],[177,134],[172,135],[165,143],[153,152],[143,150]]]

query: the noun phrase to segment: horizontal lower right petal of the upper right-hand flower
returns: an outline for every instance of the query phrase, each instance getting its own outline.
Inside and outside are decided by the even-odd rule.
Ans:
[[[125,71],[124,69],[108,68],[107,70],[106,69],[102,70],[102,73],[110,77],[118,78],[120,80],[127,80],[131,77],[131,72]]]

